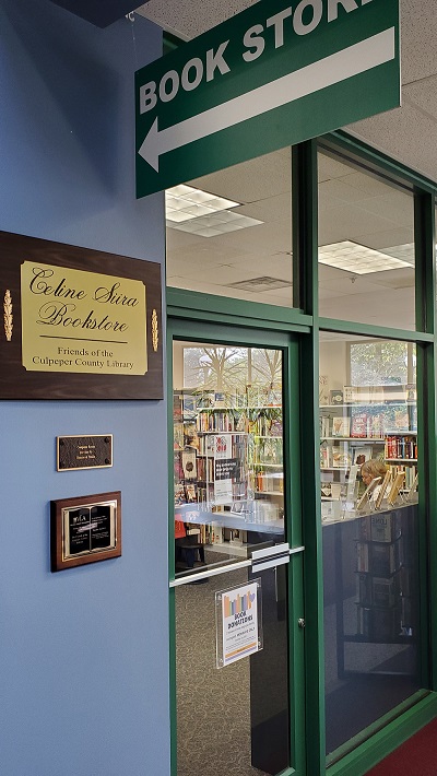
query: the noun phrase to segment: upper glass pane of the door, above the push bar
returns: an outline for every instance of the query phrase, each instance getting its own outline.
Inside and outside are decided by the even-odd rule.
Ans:
[[[174,343],[176,575],[284,540],[282,352]]]

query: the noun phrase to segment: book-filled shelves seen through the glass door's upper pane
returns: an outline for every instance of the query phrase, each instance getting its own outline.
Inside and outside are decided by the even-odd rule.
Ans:
[[[179,545],[246,556],[250,531],[283,533],[282,407],[273,399],[175,391],[175,514],[194,537]]]

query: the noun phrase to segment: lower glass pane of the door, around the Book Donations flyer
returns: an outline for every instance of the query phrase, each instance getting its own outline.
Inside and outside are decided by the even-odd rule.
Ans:
[[[216,668],[215,593],[253,581],[248,569],[175,589],[177,776],[268,776],[290,751],[287,572],[257,573],[263,648]]]

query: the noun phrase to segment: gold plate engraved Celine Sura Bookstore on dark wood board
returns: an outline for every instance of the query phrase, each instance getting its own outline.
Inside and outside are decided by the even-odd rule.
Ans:
[[[25,369],[146,373],[142,281],[24,261],[21,304]]]

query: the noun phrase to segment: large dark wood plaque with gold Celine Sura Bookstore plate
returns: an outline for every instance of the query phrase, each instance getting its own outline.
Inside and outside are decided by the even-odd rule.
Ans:
[[[0,232],[0,399],[162,399],[161,294],[156,262]]]

